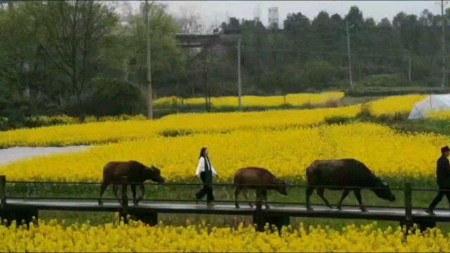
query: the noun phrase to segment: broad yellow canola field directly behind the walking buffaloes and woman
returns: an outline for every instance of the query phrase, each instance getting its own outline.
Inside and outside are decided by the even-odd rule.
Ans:
[[[340,158],[360,160],[380,176],[418,179],[435,176],[439,148],[446,143],[445,136],[401,134],[369,123],[241,130],[101,145],[6,164],[0,174],[18,181],[101,181],[107,162],[137,160],[160,167],[169,181],[189,181],[198,151],[207,146],[221,181],[231,181],[237,169],[247,166],[267,168],[288,180],[304,179],[306,167],[314,160]]]

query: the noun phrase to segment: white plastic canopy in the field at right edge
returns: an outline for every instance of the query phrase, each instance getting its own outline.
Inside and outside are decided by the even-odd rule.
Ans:
[[[450,110],[450,94],[430,95],[416,103],[411,109],[408,119],[423,119],[428,112],[438,110]]]

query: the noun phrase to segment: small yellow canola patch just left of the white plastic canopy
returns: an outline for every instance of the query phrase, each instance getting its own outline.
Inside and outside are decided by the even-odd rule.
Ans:
[[[380,117],[383,115],[406,115],[411,112],[414,104],[420,102],[428,95],[389,96],[368,103],[371,115]]]

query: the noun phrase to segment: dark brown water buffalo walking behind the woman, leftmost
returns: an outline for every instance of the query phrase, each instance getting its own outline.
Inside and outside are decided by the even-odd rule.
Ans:
[[[161,176],[161,171],[155,166],[146,167],[144,164],[136,161],[128,162],[108,162],[105,167],[103,167],[103,183],[100,187],[100,199],[98,204],[102,205],[103,202],[101,197],[105,193],[106,188],[113,183],[113,192],[117,200],[119,196],[117,195],[118,185],[122,181],[122,177],[127,176],[128,183],[130,184],[131,193],[133,193],[134,205],[138,205],[139,200],[143,198],[145,194],[145,188],[143,182],[150,179],[151,181],[164,183],[165,179]],[[142,191],[141,197],[136,200],[136,186],[139,186]]]

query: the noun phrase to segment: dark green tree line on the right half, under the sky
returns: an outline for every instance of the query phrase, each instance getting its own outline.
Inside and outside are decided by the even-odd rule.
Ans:
[[[445,18],[449,16],[447,9]],[[345,16],[322,11],[312,20],[290,13],[283,30],[236,18],[221,27],[226,36],[242,39],[247,92],[287,93],[349,87],[347,23],[356,85],[440,86],[445,64],[440,54],[441,20],[424,10],[419,16],[401,12],[392,22],[375,22],[353,6]],[[446,31],[449,41],[450,28]],[[236,40],[228,46],[229,68],[236,68]]]

